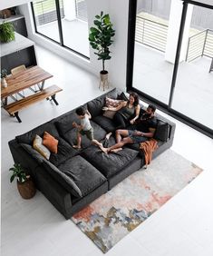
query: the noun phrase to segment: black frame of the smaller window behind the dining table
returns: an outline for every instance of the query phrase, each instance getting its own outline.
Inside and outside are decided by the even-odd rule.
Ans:
[[[83,57],[87,60],[90,60],[90,57],[88,57],[88,56],[86,56],[82,53],[79,53],[76,50],[74,50],[74,49],[68,47],[67,45],[63,44],[63,26],[62,26],[62,19],[61,19],[61,13],[60,13],[60,3],[59,3],[59,0],[54,0],[54,1],[55,1],[55,7],[56,7],[56,15],[57,15],[57,22],[58,22],[58,33],[59,33],[59,41],[60,42],[55,41],[53,38],[51,38],[51,37],[49,37],[45,34],[42,34],[37,30],[37,25],[36,25],[35,15],[34,15],[34,5],[33,5],[33,2],[31,2],[31,10],[32,10],[33,19],[34,19],[34,31],[35,31],[35,33],[44,36],[44,38],[52,41],[54,44],[58,44],[58,45],[62,46],[63,48],[70,50],[74,54],[78,54],[81,57]]]

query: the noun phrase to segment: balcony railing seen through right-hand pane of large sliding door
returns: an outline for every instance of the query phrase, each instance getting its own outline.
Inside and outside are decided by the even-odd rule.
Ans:
[[[213,30],[211,29],[189,37],[186,61],[191,62],[202,56],[213,58]]]

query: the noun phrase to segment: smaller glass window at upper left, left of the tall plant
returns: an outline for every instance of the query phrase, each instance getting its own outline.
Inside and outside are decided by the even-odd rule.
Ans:
[[[32,6],[37,33],[89,57],[85,0],[35,0]]]

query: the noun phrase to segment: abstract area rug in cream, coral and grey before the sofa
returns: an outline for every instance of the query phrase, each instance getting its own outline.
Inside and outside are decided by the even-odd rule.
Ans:
[[[73,215],[73,222],[105,253],[198,176],[202,170],[171,150]]]

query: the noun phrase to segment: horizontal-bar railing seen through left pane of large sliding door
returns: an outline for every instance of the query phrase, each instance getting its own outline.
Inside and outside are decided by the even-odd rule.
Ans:
[[[165,52],[168,25],[163,25],[140,16],[136,16],[135,41]]]

